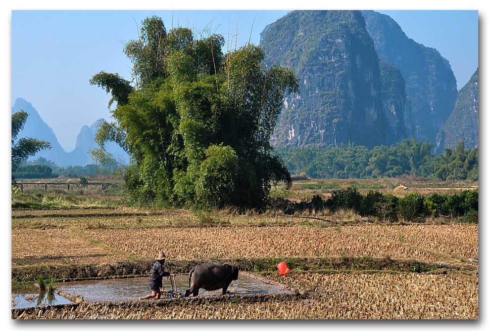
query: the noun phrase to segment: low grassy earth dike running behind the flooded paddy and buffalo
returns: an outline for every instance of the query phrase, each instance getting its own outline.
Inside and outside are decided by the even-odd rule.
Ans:
[[[338,271],[389,271],[428,272],[440,266],[416,260],[393,260],[389,257],[290,257],[290,258],[242,258],[211,260],[166,261],[165,270],[174,274],[188,273],[198,263],[228,262],[238,264],[241,271],[254,274],[277,272],[276,265],[286,261],[291,270],[338,272]],[[38,276],[56,278],[58,281],[97,280],[147,276],[154,260],[123,261],[103,264],[22,265],[12,267],[12,280],[30,283]]]

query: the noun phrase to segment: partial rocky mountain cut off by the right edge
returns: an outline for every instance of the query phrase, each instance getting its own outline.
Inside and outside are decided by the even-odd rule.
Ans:
[[[458,93],[454,110],[442,126],[436,142],[436,152],[455,148],[461,140],[466,148],[478,147],[478,68]]]

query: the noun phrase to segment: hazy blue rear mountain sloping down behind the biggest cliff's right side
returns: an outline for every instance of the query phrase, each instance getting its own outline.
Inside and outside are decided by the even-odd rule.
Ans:
[[[436,49],[408,38],[390,16],[375,11],[363,11],[363,16],[379,58],[400,69],[403,76],[412,133],[435,143],[457,96],[449,62]]]

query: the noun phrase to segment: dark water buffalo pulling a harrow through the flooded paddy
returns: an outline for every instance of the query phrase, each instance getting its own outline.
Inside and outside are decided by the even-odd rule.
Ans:
[[[223,289],[226,294],[232,281],[238,279],[238,265],[228,263],[200,263],[189,272],[189,289],[184,296],[191,293],[196,296],[199,289],[218,290]]]

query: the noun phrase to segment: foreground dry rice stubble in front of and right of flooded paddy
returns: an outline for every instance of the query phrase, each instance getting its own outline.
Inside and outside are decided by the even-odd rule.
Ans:
[[[82,303],[34,309],[25,319],[477,319],[478,282],[455,275],[296,274],[307,299],[176,302],[172,305]]]

